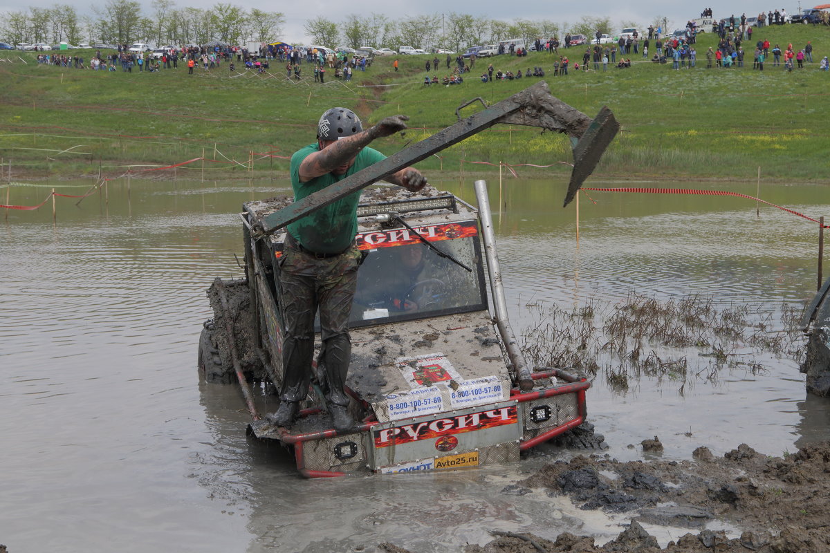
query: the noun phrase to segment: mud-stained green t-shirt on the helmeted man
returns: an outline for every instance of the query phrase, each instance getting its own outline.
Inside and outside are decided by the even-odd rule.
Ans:
[[[354,158],[349,171],[343,175],[326,173],[312,178],[308,182],[300,182],[300,163],[311,153],[319,152],[318,143],[309,144],[300,148],[291,156],[291,187],[294,189],[294,201],[302,200],[313,192],[342,181],[374,163],[378,163],[386,156],[373,148],[363,148]],[[314,213],[294,221],[288,226],[288,231],[300,245],[307,250],[318,254],[334,254],[349,247],[358,231],[357,208],[360,200],[360,191],[352,192],[334,203],[330,203]]]

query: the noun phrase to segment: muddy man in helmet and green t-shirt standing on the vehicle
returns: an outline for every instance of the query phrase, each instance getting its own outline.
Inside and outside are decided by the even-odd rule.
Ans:
[[[291,187],[295,201],[318,192],[385,156],[367,148],[376,138],[407,128],[408,117],[387,117],[368,130],[346,108],[326,111],[317,125],[317,143],[300,148],[291,157]],[[427,179],[413,167],[385,177],[388,182],[421,190]],[[315,315],[320,311],[320,382],[334,428],[354,428],[349,396],[344,392],[351,342],[349,313],[362,256],[354,245],[360,192],[354,192],[288,225],[286,249],[279,261],[281,310],[285,323],[282,344],[284,377],[280,407],[267,415],[278,426],[296,418],[300,401],[308,394],[314,353]]]

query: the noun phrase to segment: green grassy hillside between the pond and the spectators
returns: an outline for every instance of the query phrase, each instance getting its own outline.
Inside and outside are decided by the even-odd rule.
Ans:
[[[788,25],[761,31],[756,32],[756,39],[767,37],[783,48],[789,42],[798,48],[813,41],[816,64],[788,73],[768,63],[762,73],[751,69],[754,46],[745,45],[747,67],[707,70],[705,52],[715,45],[715,36],[706,33],[699,37],[697,67],[691,70],[675,71],[671,64],[647,62],[626,70],[571,70],[567,77],[554,78],[554,56],[531,52],[522,59],[479,60],[463,85],[425,87],[427,56],[400,56],[397,73],[393,58],[377,58],[365,73],[355,71],[347,88],[288,83],[283,79],[285,70],[276,62],[271,70],[276,78],[232,79],[227,65],[209,75],[197,70],[190,76],[183,67],[158,74],[135,69],[132,74],[104,73],[37,65],[31,53],[19,53],[29,65],[16,58],[12,59],[17,63],[0,63],[4,82],[0,156],[3,163],[11,159],[12,173],[20,177],[12,180],[95,175],[99,164],[105,174],[114,175],[126,166],[201,158],[203,151],[208,160],[225,161],[225,156],[236,162],[209,161],[205,172],[212,178],[284,177],[285,159],[262,156],[287,157],[313,142],[316,121],[331,106],[355,109],[364,124],[389,114],[408,114],[413,129],[405,138],[386,138],[376,144],[384,153],[393,153],[408,141],[453,124],[459,104],[476,96],[496,102],[538,80],[481,83],[477,75],[492,61],[497,70],[542,65],[555,96],[591,116],[603,105],[613,110],[623,130],[603,157],[596,172],[599,177],[752,180],[761,167],[768,181],[827,182],[830,72],[819,71],[818,61],[830,53],[830,27]],[[567,51],[572,63],[578,58],[581,63],[580,51]],[[84,55],[88,61],[91,51]],[[440,79],[447,73],[446,56],[438,57]],[[642,61],[642,55],[630,57]],[[303,69],[308,72],[310,65],[304,64]],[[329,71],[327,79],[332,77]],[[481,107],[471,106],[466,113],[477,109]],[[250,152],[254,152],[253,172],[247,171]],[[459,159],[540,165],[571,161],[563,136],[503,125],[440,155],[419,167],[457,172]],[[178,169],[178,175],[195,173],[197,177],[201,162],[188,167]],[[483,171],[484,167],[467,164],[465,171]],[[134,167],[134,171],[142,168],[147,167]],[[520,171],[532,170],[523,167]],[[544,170],[551,171],[564,174],[569,168],[559,165]],[[5,177],[5,172],[7,165],[0,174]],[[160,176],[159,172],[144,174]]]

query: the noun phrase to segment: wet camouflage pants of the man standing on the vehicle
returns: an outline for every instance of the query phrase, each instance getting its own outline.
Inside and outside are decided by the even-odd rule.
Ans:
[[[281,400],[300,401],[308,394],[314,321],[319,309],[322,343],[317,366],[323,380],[320,385],[330,404],[349,404],[343,387],[352,353],[348,323],[360,259],[354,245],[341,255],[321,259],[286,244],[280,260],[281,310],[285,324]]]

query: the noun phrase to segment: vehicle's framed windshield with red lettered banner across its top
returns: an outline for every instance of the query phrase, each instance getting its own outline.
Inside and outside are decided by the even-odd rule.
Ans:
[[[404,228],[359,234],[357,244],[366,258],[358,270],[350,326],[486,308],[476,221],[416,230],[472,271],[438,255]]]

